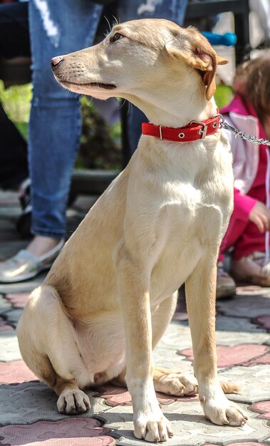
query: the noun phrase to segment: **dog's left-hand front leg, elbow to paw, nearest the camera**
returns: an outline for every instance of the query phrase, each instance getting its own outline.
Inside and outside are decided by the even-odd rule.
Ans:
[[[125,323],[126,382],[133,400],[134,434],[150,442],[172,436],[155,395],[152,367],[150,274],[125,248],[116,262]]]

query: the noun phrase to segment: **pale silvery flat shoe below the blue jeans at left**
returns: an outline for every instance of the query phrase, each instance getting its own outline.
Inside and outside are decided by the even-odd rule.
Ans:
[[[64,244],[62,239],[55,248],[43,256],[35,256],[26,249],[0,264],[0,282],[11,284],[37,276],[41,271],[50,269]]]

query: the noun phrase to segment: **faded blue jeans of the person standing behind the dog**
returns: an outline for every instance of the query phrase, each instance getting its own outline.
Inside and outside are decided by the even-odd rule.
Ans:
[[[123,0],[122,3],[121,21],[163,16],[182,24],[187,0],[141,0],[140,3]],[[147,4],[156,6],[150,8]],[[66,204],[81,136],[78,96],[68,93],[56,83],[50,60],[53,56],[90,46],[102,11],[103,6],[90,0],[29,2],[33,100],[28,157],[33,203],[32,232],[35,235],[61,238],[65,234]],[[138,120],[134,112],[133,120]],[[140,130],[133,136],[135,140],[138,133]]]

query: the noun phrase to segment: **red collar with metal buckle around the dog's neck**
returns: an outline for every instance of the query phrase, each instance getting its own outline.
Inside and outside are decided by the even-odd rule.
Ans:
[[[151,123],[142,123],[142,135],[155,136],[160,140],[188,142],[203,140],[206,136],[217,132],[219,128],[219,112],[205,121],[191,121],[182,128],[162,127]]]

